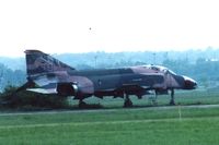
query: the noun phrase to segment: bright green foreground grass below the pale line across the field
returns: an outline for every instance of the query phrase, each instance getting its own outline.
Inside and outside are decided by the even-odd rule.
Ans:
[[[3,144],[218,144],[218,118],[1,129]],[[204,128],[203,125],[208,128]]]

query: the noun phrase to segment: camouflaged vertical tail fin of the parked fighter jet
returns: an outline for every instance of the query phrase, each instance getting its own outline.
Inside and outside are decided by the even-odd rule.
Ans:
[[[49,73],[55,71],[76,70],[51,56],[38,50],[26,50],[26,72],[27,75]]]

